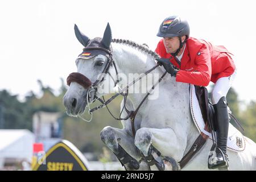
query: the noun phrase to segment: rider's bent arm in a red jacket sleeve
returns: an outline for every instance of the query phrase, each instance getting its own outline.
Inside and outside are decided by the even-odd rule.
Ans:
[[[195,68],[192,71],[180,70],[176,81],[194,85],[208,86],[212,75],[212,64],[209,49],[203,45],[195,57]]]

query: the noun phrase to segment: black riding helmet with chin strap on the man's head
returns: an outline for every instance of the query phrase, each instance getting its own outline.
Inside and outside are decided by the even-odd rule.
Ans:
[[[164,19],[163,22],[160,24],[158,34],[156,36],[162,38],[172,38],[174,36],[179,37],[180,40],[180,48],[177,49],[175,53],[172,53],[172,56],[176,56],[180,49],[183,47],[185,41],[189,38],[189,24],[187,20],[181,19],[179,16],[169,16],[168,18]],[[187,38],[182,43],[181,36],[186,36]]]

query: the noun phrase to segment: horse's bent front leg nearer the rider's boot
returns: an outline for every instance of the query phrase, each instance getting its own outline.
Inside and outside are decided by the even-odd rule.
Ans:
[[[183,157],[187,139],[176,134],[171,128],[152,129],[143,127],[139,129],[135,135],[135,146],[147,158],[156,159],[158,169],[161,164],[166,164],[168,169],[178,169],[177,162]],[[161,156],[166,157],[160,159],[156,154],[160,152]],[[168,158],[167,158],[168,157]],[[159,160],[162,160],[159,162]],[[165,167],[162,167],[164,169]]]

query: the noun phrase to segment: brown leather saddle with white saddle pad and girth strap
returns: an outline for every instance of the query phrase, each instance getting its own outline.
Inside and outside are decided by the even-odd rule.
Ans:
[[[204,86],[190,85],[190,108],[193,122],[199,131],[199,137],[197,137],[187,154],[180,160],[179,164],[181,168],[195,156],[208,139],[214,139],[214,131],[216,131],[214,107],[209,101],[207,88]],[[230,113],[229,115],[235,118]],[[237,120],[234,119],[234,121]],[[238,126],[241,127],[239,123]],[[227,149],[235,152],[245,150],[245,138],[231,123],[229,123]]]

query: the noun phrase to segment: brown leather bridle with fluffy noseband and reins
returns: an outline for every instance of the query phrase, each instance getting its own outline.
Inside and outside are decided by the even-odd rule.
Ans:
[[[90,96],[90,92],[94,91],[94,92],[97,92],[97,89],[98,89],[98,85],[105,80],[105,77],[107,74],[110,75],[110,77],[112,78],[112,80],[114,81],[114,86],[117,85],[117,83],[119,82],[119,78],[118,78],[118,71],[117,71],[117,67],[116,67],[116,64],[115,64],[115,61],[113,60],[113,52],[112,52],[112,48],[110,47],[110,50],[109,49],[106,49],[104,47],[85,47],[83,49],[83,51],[93,51],[93,50],[100,50],[100,51],[105,51],[107,54],[108,54],[108,62],[104,68],[104,70],[102,71],[102,74],[103,76],[100,76],[99,78],[97,78],[97,80],[92,83],[89,78],[87,78],[86,76],[82,75],[81,73],[77,73],[77,72],[73,72],[71,73],[68,77],[67,77],[67,85],[69,86],[71,84],[71,82],[77,82],[78,84],[80,84],[81,86],[83,86],[85,89],[88,89],[88,94],[86,96],[86,99],[87,99],[87,104],[89,105],[89,98],[91,99],[91,96]],[[135,117],[136,117],[136,114],[138,113],[138,110],[139,108],[142,106],[143,102],[146,100],[146,98],[150,95],[150,93],[152,92],[152,90],[154,90],[154,88],[159,84],[160,81],[162,81],[163,77],[166,75],[167,72],[165,72],[160,78],[159,80],[152,86],[152,88],[146,93],[146,96],[144,96],[143,100],[141,101],[141,103],[139,104],[139,106],[137,107],[137,109],[135,110],[128,110],[127,107],[126,107],[126,100],[127,100],[127,96],[129,94],[128,90],[129,90],[129,87],[133,84],[135,84],[135,82],[141,80],[144,76],[146,76],[148,73],[152,72],[154,69],[156,69],[157,67],[159,67],[159,63],[156,64],[154,67],[152,67],[151,69],[149,69],[148,71],[144,72],[142,76],[139,76],[138,78],[136,78],[133,82],[131,82],[130,84],[126,85],[125,88],[123,89],[120,89],[119,90],[119,93],[117,94],[114,94],[114,96],[110,97],[107,101],[105,101],[105,98],[104,96],[102,96],[102,99],[100,97],[97,97],[96,94],[94,94],[94,98],[93,98],[93,102],[98,100],[101,102],[101,105],[97,106],[97,107],[94,107],[93,109],[89,109],[89,114],[92,114],[93,111],[96,111],[98,109],[101,109],[102,107],[107,107],[110,115],[112,115],[112,117],[116,120],[124,120],[126,121],[127,119],[130,118],[130,121],[131,121],[131,127],[132,127],[132,130],[133,130],[133,135],[135,137],[135,126],[134,126],[134,120],[135,120]],[[110,67],[114,66],[115,68],[115,74],[116,74],[116,80],[114,80],[113,76],[109,73],[109,69]],[[123,92],[126,92],[126,93],[123,93]],[[114,115],[112,114],[112,112],[109,110],[108,108],[108,104],[110,102],[112,102],[114,100],[114,98],[116,98],[117,96],[123,96],[123,107],[121,109],[121,113],[119,114],[119,117],[114,117]],[[125,118],[121,118],[121,114],[123,112],[123,110],[126,110],[126,113],[127,113],[127,116]],[[91,118],[92,119],[92,118]]]

